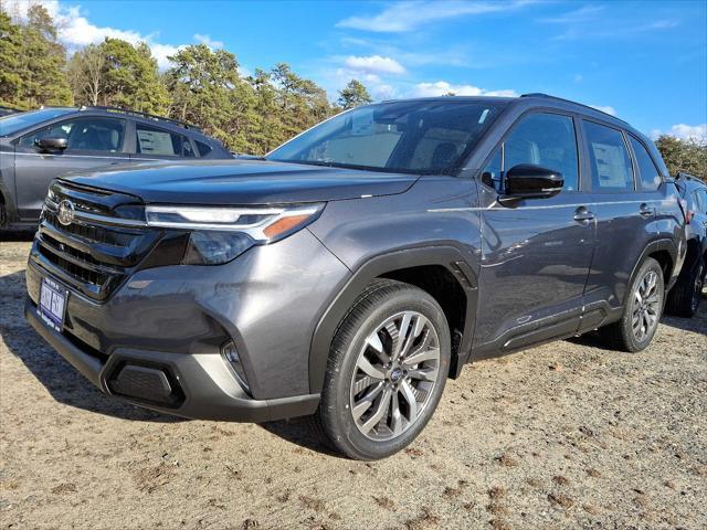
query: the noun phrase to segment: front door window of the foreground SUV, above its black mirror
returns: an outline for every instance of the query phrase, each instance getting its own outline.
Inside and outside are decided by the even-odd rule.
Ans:
[[[559,171],[564,189],[577,190],[577,137],[572,118],[557,114],[532,114],[523,118],[504,142],[504,171],[519,163]]]

